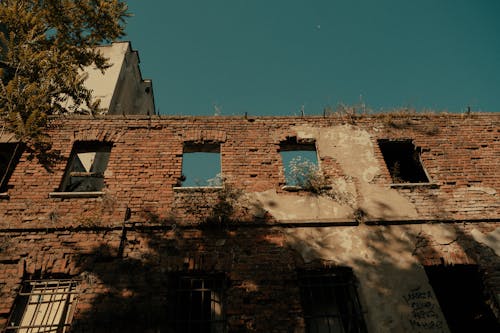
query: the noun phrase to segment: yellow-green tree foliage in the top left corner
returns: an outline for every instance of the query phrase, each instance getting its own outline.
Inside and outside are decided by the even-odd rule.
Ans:
[[[0,0],[0,117],[28,146],[47,141],[47,116],[93,113],[84,67],[109,64],[95,48],[124,35],[121,0]]]

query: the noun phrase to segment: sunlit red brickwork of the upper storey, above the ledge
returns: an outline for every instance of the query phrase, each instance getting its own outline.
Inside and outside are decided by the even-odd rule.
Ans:
[[[372,137],[382,171],[373,183],[391,179],[378,150],[379,138],[412,138],[422,149],[422,162],[438,187],[399,189],[417,206],[422,218],[498,218],[499,123],[495,114],[362,117],[358,128]],[[279,143],[295,136],[294,126],[317,128],[342,124],[338,118],[224,118],[166,117],[152,119],[54,120],[50,135],[63,160],[45,170],[24,154],[13,173],[9,199],[0,200],[3,228],[69,227],[98,221],[119,225],[126,207],[133,220],[146,222],[144,212],[158,217],[178,216],[174,202],[182,196],[174,187],[182,172],[183,142],[221,142],[222,173],[227,182],[245,192],[275,189],[283,192],[284,174]],[[106,195],[100,198],[49,198],[61,184],[73,142],[113,142],[105,174]],[[326,176],[342,176],[336,161],[321,161]]]

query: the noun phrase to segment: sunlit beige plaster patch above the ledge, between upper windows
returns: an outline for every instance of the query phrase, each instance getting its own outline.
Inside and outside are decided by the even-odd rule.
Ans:
[[[335,160],[345,175],[332,181],[332,188],[349,200],[327,196],[278,194],[274,190],[253,193],[253,198],[278,221],[352,219],[361,208],[370,218],[408,219],[418,216],[416,207],[397,190],[371,184],[381,174],[373,140],[363,129],[351,125],[333,127],[295,126],[300,139],[315,139],[320,157]],[[358,202],[355,202],[355,198]]]

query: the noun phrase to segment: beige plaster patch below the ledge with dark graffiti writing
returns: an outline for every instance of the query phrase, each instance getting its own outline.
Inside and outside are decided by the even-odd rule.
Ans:
[[[412,255],[420,231],[417,225],[284,229],[287,244],[304,262],[323,259],[352,267],[361,297],[371,305],[370,332],[448,332],[425,271]],[[425,292],[439,327],[416,327],[420,324],[413,311],[416,291]]]

